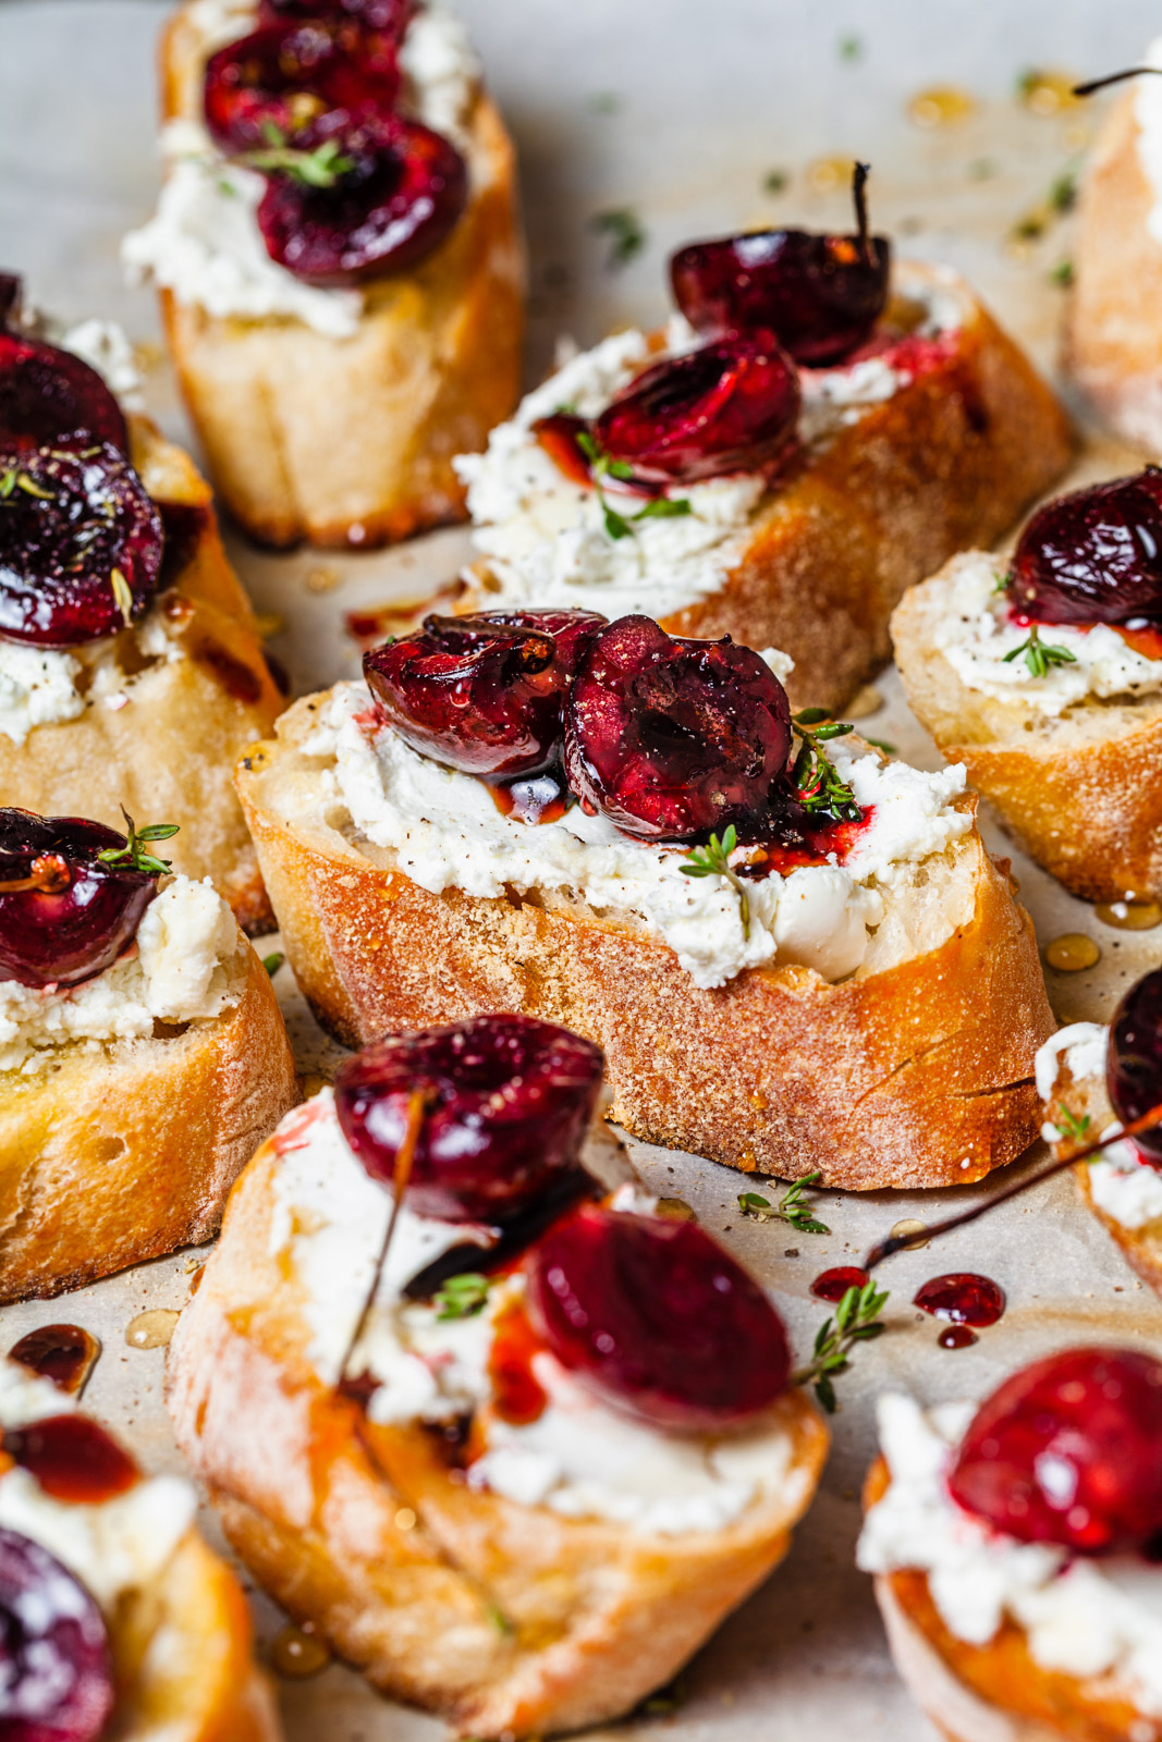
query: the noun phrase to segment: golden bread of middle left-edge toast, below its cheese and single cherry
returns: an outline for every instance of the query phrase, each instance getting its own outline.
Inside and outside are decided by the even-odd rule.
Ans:
[[[254,1144],[298,1099],[270,976],[242,948],[242,996],[221,1016],[0,1071],[0,1301],[218,1232]]]

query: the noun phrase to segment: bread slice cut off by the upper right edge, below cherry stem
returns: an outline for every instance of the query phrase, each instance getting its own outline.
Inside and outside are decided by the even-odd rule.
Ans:
[[[1162,455],[1162,242],[1148,228],[1155,193],[1138,155],[1136,92],[1098,134],[1073,239],[1066,364],[1101,420]]]

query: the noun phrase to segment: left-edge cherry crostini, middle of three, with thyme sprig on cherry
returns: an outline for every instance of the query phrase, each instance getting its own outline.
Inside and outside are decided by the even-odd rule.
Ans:
[[[270,976],[150,841],[0,810],[0,1301],[207,1240],[296,1101]]]

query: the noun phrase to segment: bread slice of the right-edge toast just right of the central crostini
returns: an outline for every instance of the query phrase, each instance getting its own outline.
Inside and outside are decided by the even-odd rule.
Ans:
[[[1162,895],[1162,695],[1091,697],[1049,718],[969,690],[936,646],[958,559],[892,615],[908,700],[1009,833],[1084,901]]]

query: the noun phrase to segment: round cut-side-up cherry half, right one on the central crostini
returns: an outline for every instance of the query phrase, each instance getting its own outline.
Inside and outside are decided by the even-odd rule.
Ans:
[[[564,709],[570,786],[646,840],[742,824],[789,751],[786,690],[758,653],[730,636],[667,636],[650,617],[622,617],[591,641]]]

